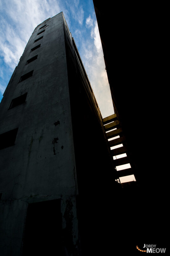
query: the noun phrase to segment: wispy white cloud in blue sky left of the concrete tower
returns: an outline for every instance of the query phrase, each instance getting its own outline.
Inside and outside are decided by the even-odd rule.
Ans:
[[[60,2],[60,1],[57,1]],[[0,55],[15,68],[35,27],[60,12],[54,0],[6,0],[0,21]]]

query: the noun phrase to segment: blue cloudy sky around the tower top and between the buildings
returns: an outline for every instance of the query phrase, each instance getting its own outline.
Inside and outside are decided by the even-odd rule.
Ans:
[[[113,114],[93,0],[0,0],[0,101],[37,25],[63,12],[102,116]]]

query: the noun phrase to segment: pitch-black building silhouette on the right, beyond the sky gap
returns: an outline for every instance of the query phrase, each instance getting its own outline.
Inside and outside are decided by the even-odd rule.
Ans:
[[[146,241],[167,248],[168,161],[164,149],[168,138],[158,135],[160,122],[167,117],[159,58],[165,6],[108,0],[93,3],[113,106],[137,180],[137,186],[126,186],[122,197],[123,202],[126,197],[133,202],[130,207],[124,204],[128,216],[122,206],[129,222],[122,251],[128,253],[123,244],[131,252],[134,242]]]

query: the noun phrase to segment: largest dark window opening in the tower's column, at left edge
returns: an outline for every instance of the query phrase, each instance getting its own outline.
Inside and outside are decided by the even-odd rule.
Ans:
[[[9,132],[4,132],[0,134],[0,149],[8,148],[15,145],[17,132],[18,132],[18,128],[11,130]]]

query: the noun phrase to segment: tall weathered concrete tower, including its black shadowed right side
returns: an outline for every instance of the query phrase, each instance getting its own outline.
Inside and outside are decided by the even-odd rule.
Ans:
[[[32,33],[0,123],[1,255],[108,255],[121,186],[62,12]]]

